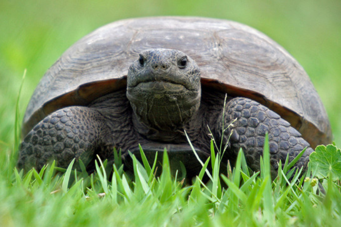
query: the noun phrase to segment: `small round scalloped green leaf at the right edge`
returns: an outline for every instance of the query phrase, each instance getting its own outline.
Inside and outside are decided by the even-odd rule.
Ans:
[[[317,178],[341,179],[341,152],[334,145],[317,146],[310,155],[309,165]]]

